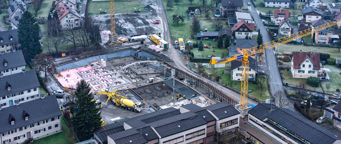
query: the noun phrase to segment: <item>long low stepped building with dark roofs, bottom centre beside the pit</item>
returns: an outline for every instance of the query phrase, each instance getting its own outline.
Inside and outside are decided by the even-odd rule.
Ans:
[[[221,102],[203,108],[187,104],[97,128],[94,138],[101,144],[206,144],[213,142],[216,131],[218,136],[229,135],[238,126],[239,112],[229,104]]]

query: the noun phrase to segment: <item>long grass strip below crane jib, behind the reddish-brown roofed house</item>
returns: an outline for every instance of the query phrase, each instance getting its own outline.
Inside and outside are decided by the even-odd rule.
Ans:
[[[327,53],[330,54],[330,57],[341,59],[341,53],[339,53],[338,48],[304,46],[297,44],[282,44],[281,46],[278,46],[278,53],[299,52],[300,50],[302,50],[302,52],[310,52],[312,50],[313,52]]]

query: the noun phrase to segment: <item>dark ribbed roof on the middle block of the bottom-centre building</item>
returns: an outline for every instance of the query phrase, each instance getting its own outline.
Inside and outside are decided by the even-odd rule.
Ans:
[[[172,117],[149,123],[161,138],[205,125],[206,122],[193,112],[185,112]]]

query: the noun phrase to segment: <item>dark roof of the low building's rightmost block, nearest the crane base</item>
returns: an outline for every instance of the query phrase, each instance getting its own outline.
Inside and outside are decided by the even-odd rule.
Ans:
[[[239,114],[239,112],[233,106],[224,102],[220,102],[203,108],[211,111],[215,116],[217,116],[219,120]]]

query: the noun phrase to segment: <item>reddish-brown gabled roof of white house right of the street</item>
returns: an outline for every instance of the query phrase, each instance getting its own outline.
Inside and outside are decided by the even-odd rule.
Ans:
[[[319,53],[312,53],[310,52],[293,52],[293,67],[295,69],[300,69],[301,64],[307,58],[310,58],[311,62],[313,63],[314,70],[320,70],[320,54]]]

